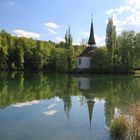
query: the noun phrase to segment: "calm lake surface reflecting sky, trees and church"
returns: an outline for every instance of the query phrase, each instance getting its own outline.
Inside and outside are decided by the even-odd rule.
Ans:
[[[0,140],[109,140],[139,100],[139,77],[0,73]]]

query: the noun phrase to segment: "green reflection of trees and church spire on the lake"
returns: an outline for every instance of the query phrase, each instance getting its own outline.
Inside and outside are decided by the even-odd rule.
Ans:
[[[89,122],[94,117],[95,99],[105,100],[107,126],[115,110],[127,113],[127,107],[140,100],[140,79],[133,76],[78,76],[43,73],[0,73],[0,108],[27,101],[59,97],[63,100],[66,117],[70,118],[72,96],[87,105]]]

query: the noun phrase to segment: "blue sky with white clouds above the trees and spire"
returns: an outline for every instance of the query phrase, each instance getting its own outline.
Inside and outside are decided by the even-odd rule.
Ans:
[[[60,42],[70,26],[73,44],[80,44],[89,36],[91,14],[97,46],[105,44],[110,17],[118,35],[140,32],[140,0],[0,0],[0,30]]]

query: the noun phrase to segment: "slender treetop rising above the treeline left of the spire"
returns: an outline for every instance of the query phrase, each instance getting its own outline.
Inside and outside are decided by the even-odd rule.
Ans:
[[[72,35],[71,35],[70,30],[71,28],[68,27],[68,30],[66,30],[66,34],[65,34],[66,48],[70,48],[70,46],[72,45]]]

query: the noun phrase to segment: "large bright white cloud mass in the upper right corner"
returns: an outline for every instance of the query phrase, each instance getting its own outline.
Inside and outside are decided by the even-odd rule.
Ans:
[[[106,13],[114,16],[118,34],[124,30],[140,32],[140,0],[124,0],[124,5],[110,9]]]

